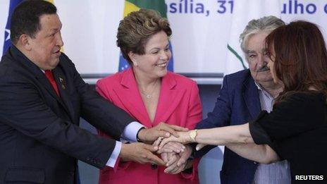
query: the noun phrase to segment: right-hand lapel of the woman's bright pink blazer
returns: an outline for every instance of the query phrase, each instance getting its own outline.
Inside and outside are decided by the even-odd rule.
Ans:
[[[156,108],[156,116],[154,117],[154,125],[168,120],[178,104],[180,104],[184,94],[185,90],[178,89],[175,78],[168,72],[161,81],[161,91]]]

